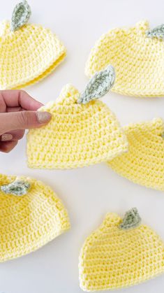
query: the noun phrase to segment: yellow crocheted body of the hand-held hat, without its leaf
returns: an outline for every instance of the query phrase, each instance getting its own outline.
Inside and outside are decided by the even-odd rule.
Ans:
[[[115,115],[102,101],[77,103],[80,94],[66,85],[56,102],[39,110],[52,113],[45,127],[27,134],[30,168],[68,169],[106,162],[126,152],[128,143]]]

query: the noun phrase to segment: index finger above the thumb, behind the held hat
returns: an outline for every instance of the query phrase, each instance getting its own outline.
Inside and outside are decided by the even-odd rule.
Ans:
[[[1,90],[0,99],[6,103],[6,107],[21,107],[24,110],[38,110],[43,103],[33,99],[23,90]]]

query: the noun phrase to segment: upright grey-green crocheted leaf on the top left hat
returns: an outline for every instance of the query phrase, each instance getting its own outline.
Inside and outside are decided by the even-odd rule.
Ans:
[[[11,17],[11,30],[16,31],[20,27],[22,27],[24,24],[26,24],[29,20],[29,17],[31,15],[31,8],[27,1],[23,1],[20,3],[17,3],[13,10],[13,14]]]

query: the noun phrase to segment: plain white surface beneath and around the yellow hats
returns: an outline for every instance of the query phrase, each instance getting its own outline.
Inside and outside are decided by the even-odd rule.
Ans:
[[[16,1],[1,3],[0,19],[10,19]],[[50,27],[68,49],[54,73],[26,90],[47,103],[57,99],[61,87],[72,83],[82,91],[87,83],[84,64],[91,47],[104,32],[147,19],[151,27],[163,23],[163,0],[29,0],[31,22]],[[154,69],[156,71],[156,69]],[[164,98],[143,99],[107,94],[103,101],[117,114],[121,125],[164,117]],[[136,206],[142,221],[164,240],[164,194],[121,178],[105,164],[69,171],[27,168],[26,138],[7,155],[0,155],[1,173],[33,176],[50,185],[68,208],[72,229],[40,250],[0,264],[0,293],[80,293],[78,255],[84,239],[98,227],[107,212],[124,215]],[[117,292],[162,293],[164,276]]]

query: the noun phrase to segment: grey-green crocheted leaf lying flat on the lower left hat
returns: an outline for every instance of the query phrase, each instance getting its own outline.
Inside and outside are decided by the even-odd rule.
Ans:
[[[29,182],[15,180],[13,183],[9,183],[8,185],[1,185],[1,191],[5,192],[6,194],[21,196],[27,194],[29,187]]]

